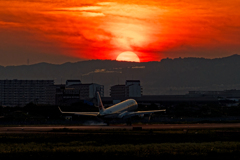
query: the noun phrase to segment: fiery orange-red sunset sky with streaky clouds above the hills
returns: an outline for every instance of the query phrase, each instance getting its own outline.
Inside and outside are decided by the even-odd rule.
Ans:
[[[1,0],[0,65],[240,54],[239,0]]]

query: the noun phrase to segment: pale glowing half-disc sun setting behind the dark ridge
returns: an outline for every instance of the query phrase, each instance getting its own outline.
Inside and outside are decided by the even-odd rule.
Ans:
[[[122,52],[116,58],[117,61],[140,62],[136,53],[131,51]]]

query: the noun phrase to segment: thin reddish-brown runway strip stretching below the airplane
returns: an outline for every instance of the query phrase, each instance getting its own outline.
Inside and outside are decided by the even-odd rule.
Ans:
[[[48,133],[58,129],[72,130],[164,130],[164,129],[223,129],[240,128],[240,123],[205,123],[205,124],[137,124],[126,125],[91,125],[91,126],[24,126],[0,127],[0,133]]]

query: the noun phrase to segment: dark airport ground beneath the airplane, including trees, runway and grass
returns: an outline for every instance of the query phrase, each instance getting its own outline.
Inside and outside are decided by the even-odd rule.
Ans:
[[[240,159],[239,110],[190,117],[179,109],[150,123],[106,126],[66,121],[57,107],[2,108],[0,159]]]

